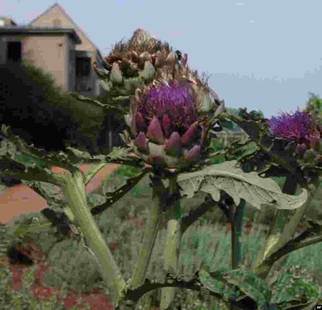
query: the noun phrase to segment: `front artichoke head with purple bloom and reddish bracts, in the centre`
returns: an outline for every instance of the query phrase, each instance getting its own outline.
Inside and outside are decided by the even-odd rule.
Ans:
[[[121,134],[123,141],[153,166],[184,168],[194,164],[210,142],[208,123],[198,113],[197,100],[193,87],[177,80],[146,92],[137,89],[131,97],[132,113],[125,116],[130,132]]]

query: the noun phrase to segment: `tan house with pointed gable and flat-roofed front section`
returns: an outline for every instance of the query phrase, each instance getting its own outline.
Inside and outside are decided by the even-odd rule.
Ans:
[[[0,17],[0,63],[21,60],[49,71],[63,90],[101,93],[93,63],[102,55],[57,3],[27,26]]]

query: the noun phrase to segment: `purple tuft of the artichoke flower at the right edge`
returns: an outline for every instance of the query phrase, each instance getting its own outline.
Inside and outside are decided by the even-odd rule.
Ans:
[[[281,137],[287,141],[296,141],[310,148],[311,138],[320,136],[317,123],[312,119],[311,113],[300,111],[294,114],[280,112],[280,116],[268,120],[270,136]]]

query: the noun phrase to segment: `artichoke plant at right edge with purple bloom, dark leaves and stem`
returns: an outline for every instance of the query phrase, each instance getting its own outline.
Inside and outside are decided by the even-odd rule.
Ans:
[[[308,206],[321,184],[322,124],[319,116],[310,109],[298,109],[295,113],[281,112],[280,116],[270,119],[255,111],[247,113],[246,110],[241,109],[238,116],[227,113],[220,116],[223,120],[228,118],[237,123],[260,147],[260,150],[254,150],[245,157],[244,164],[255,159],[254,170],[263,178],[285,176],[283,193],[295,195],[298,185],[307,189],[309,193],[306,204],[298,208],[294,214],[285,210],[275,213],[266,244],[252,266],[252,270],[256,270],[266,258],[294,237],[304,215],[307,220],[321,224],[316,213],[309,211]],[[262,269],[261,277],[268,275],[271,266],[267,265],[266,270]]]

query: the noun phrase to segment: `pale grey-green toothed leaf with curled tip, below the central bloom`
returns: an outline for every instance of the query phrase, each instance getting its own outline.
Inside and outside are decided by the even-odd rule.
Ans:
[[[197,172],[179,174],[177,183],[181,187],[181,195],[187,195],[187,198],[203,191],[211,194],[214,201],[219,201],[220,190],[223,190],[237,206],[242,198],[259,210],[266,205],[277,209],[297,209],[308,198],[305,189],[298,196],[282,193],[274,180],[261,178],[255,172],[244,173],[235,160],[210,165]]]

